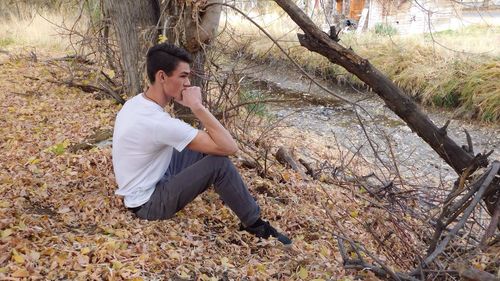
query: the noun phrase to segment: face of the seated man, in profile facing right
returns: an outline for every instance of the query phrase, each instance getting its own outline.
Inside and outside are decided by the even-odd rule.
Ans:
[[[165,95],[174,99],[180,99],[182,90],[191,86],[191,82],[189,81],[190,73],[191,68],[189,64],[181,61],[177,65],[177,68],[172,71],[172,75],[168,76],[163,74],[163,79],[161,81]]]

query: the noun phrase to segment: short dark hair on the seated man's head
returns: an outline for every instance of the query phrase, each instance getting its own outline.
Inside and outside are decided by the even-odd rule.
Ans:
[[[146,55],[146,68],[151,83],[155,82],[155,74],[163,70],[168,76],[172,75],[179,62],[191,63],[191,55],[183,48],[170,43],[161,43],[151,47]]]

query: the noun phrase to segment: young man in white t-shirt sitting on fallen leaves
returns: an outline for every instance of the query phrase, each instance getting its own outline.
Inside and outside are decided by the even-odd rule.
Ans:
[[[147,220],[168,219],[209,186],[238,216],[242,228],[261,238],[292,241],[260,218],[260,209],[228,155],[238,146],[202,104],[199,87],[189,81],[191,58],[184,49],[159,44],[147,53],[151,86],[128,100],[113,133],[116,194]],[[191,109],[206,128],[197,130],[164,111],[174,100]],[[174,150],[175,149],[175,150]]]

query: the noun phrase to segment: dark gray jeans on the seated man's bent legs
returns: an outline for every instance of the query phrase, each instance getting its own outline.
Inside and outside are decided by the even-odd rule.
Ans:
[[[136,215],[147,220],[169,219],[211,185],[245,226],[260,217],[259,206],[229,158],[187,148],[174,150],[167,172]]]

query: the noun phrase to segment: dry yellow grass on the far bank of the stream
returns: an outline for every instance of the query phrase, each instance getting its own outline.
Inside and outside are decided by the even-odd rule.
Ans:
[[[271,20],[270,20],[271,19]],[[304,68],[325,78],[360,81],[325,58],[299,46],[297,26],[283,15],[256,20]],[[286,56],[248,21],[231,17],[224,42],[261,61]],[[300,31],[299,31],[300,32]],[[243,34],[234,39],[232,34]],[[231,39],[227,39],[231,37]],[[353,48],[386,73],[409,95],[427,105],[456,108],[462,116],[488,122],[500,120],[500,27],[469,26],[429,35],[380,36],[375,33],[341,35],[340,43]]]

